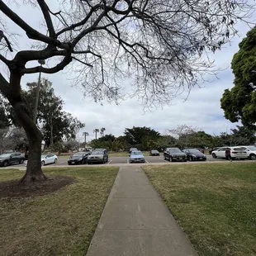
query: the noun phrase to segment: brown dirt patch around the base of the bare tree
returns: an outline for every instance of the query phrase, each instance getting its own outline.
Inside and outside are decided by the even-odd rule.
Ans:
[[[60,188],[74,183],[74,179],[66,176],[56,176],[43,182],[31,185],[19,184],[18,180],[0,183],[0,198],[12,197],[38,197],[50,192],[56,192]]]

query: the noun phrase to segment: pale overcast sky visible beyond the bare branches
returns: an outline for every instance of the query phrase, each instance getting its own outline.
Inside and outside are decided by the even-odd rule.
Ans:
[[[28,12],[26,8],[18,7],[18,13],[34,27],[38,26],[40,21],[36,11],[29,9]],[[29,15],[27,15],[28,13]],[[13,24],[9,24],[8,27],[12,31],[17,28]],[[216,66],[224,69],[220,71],[218,78],[211,77],[210,79],[213,80],[211,83],[201,83],[201,88],[193,88],[186,102],[184,98],[187,95],[184,93],[173,99],[171,105],[163,107],[163,109],[154,109],[144,113],[141,102],[135,98],[126,98],[118,106],[115,103],[107,102],[104,102],[102,106],[93,102],[92,99],[83,98],[81,88],[71,86],[73,81],[69,80],[72,75],[70,73],[43,74],[43,77],[48,78],[53,83],[55,94],[64,100],[64,110],[69,111],[86,124],[85,128],[79,132],[80,138],[83,131],[87,131],[89,133],[88,140],[92,140],[95,137],[93,129],[100,129],[101,127],[106,128],[106,134],[122,135],[126,127],[149,126],[163,133],[166,129],[174,129],[183,124],[196,126],[210,134],[219,134],[236,125],[223,117],[224,113],[220,109],[220,97],[225,88],[233,87],[234,76],[230,69],[230,62],[233,55],[238,51],[238,44],[247,31],[249,31],[247,25],[240,25],[240,37],[236,37],[230,45],[225,45],[221,51],[213,55]],[[20,47],[27,45],[25,37],[22,38]],[[2,65],[0,68],[2,69]],[[28,82],[36,81],[37,77],[38,74],[24,76],[21,81],[22,86]],[[129,81],[126,82],[125,86],[129,88]]]

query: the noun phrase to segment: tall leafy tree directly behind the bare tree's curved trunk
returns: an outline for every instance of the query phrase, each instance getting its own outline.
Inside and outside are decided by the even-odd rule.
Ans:
[[[27,110],[32,117],[35,111],[35,98],[37,83],[27,83],[26,91],[22,92],[24,101],[27,102]],[[60,97],[55,95],[52,83],[45,79],[41,79],[40,97],[37,108],[36,121],[45,140],[45,146],[49,147],[62,141],[74,140],[78,134],[78,130],[84,127],[81,121],[73,117],[70,113],[63,110],[64,102]],[[20,126],[15,112],[10,104],[6,105],[8,116],[12,123]]]

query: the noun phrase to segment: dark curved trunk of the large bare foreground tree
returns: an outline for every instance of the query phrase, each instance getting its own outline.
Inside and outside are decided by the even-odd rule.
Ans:
[[[21,183],[32,183],[46,179],[41,168],[41,141],[42,135],[36,127],[33,119],[26,110],[26,104],[21,98],[21,76],[18,73],[11,73],[10,83],[0,75],[0,89],[16,113],[17,119],[26,131],[29,140],[29,154],[26,166],[26,174],[21,178]]]

